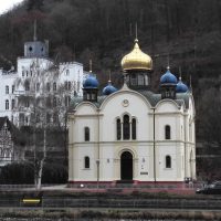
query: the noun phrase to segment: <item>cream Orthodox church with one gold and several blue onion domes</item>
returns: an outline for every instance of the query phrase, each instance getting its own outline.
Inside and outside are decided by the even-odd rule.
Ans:
[[[99,93],[93,75],[69,113],[69,182],[182,182],[196,179],[194,101],[168,67],[150,91],[152,60],[135,40],[122,60],[125,83]],[[99,95],[102,94],[102,95]]]

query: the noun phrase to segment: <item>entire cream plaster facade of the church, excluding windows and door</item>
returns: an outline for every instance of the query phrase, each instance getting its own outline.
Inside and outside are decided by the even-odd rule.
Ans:
[[[124,106],[123,101],[128,105]],[[136,117],[137,139],[116,140],[116,117],[124,114]],[[189,156],[194,150],[192,144],[187,144],[189,119],[193,112],[186,112],[172,101],[164,101],[156,107],[156,180],[183,181],[190,176]],[[154,181],[154,143],[152,143],[152,109],[141,95],[131,91],[119,91],[104,101],[101,110],[88,103],[77,106],[73,115],[70,134],[74,150],[73,180],[96,181],[96,159],[99,158],[99,181],[120,179],[120,152],[129,150],[134,155],[134,179],[139,181]],[[97,118],[99,116],[99,119]],[[192,123],[193,124],[193,123]],[[171,127],[171,139],[165,139],[165,126]],[[84,141],[84,127],[91,129],[91,141]],[[99,136],[98,136],[99,130]],[[194,136],[194,131],[192,135]],[[73,138],[74,137],[74,138]],[[73,138],[73,139],[72,139]],[[99,138],[99,144],[96,140]],[[99,154],[98,154],[99,149]],[[171,168],[166,168],[166,156],[171,157]],[[90,170],[82,168],[85,156],[90,156],[93,164]],[[186,173],[185,173],[186,171]],[[194,168],[193,168],[194,172]]]

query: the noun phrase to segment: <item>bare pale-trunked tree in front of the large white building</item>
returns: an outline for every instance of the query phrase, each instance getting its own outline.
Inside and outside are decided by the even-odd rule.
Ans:
[[[64,85],[60,83],[61,72],[62,70],[51,61],[45,63],[45,60],[33,59],[29,76],[18,78],[15,84],[17,88],[24,88],[24,93],[18,96],[19,110],[25,108],[24,125],[33,128],[32,149],[36,189],[41,188],[43,167],[49,152],[48,129],[52,126],[66,127],[67,105],[63,105],[66,93],[64,93]],[[66,102],[70,101],[69,96]],[[21,119],[20,116],[19,118]]]

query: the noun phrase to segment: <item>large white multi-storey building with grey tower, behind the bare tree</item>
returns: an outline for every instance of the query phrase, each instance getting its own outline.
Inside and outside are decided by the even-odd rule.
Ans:
[[[48,48],[46,42],[25,42],[24,56],[17,61],[17,72],[0,70],[0,116],[8,116],[17,126],[42,120],[61,123],[71,95],[83,95],[83,65],[55,64],[49,59]],[[44,116],[40,116],[42,113]]]

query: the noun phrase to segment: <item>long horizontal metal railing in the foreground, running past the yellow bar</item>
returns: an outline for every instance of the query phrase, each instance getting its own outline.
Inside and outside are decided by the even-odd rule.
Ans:
[[[221,199],[119,199],[119,198],[59,198],[43,197],[38,204],[23,203],[22,198],[0,199],[0,207],[40,207],[40,208],[76,208],[76,209],[203,209],[221,210]]]

